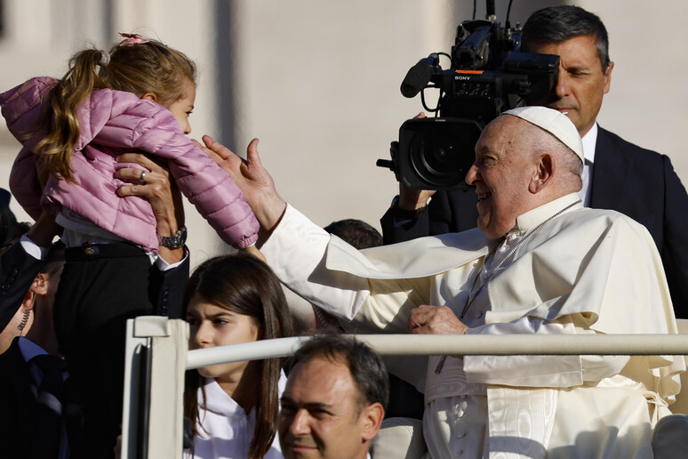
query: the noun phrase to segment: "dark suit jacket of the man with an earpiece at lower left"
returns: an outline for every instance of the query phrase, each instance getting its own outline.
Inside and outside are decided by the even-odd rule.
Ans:
[[[32,278],[33,280],[33,278]],[[36,459],[36,396],[18,338],[0,355],[0,448],[3,457]]]

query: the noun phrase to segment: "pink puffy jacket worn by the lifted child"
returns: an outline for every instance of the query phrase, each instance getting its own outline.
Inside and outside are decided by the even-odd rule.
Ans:
[[[125,183],[114,173],[128,165],[115,158],[124,149],[140,149],[167,161],[181,192],[220,238],[241,248],[255,242],[258,221],[234,181],[182,133],[169,110],[132,93],[101,89],[77,108],[81,138],[71,159],[75,182],[51,176],[42,193],[34,149],[45,134],[38,128],[55,81],[33,78],[0,94],[7,126],[24,145],[12,166],[10,189],[32,218],[38,218],[42,205],[54,210],[63,206],[157,253],[156,219],[148,201],[116,195]]]

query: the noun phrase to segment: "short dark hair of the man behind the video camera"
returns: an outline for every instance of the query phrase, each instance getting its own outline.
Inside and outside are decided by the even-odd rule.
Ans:
[[[525,21],[521,48],[532,52],[537,44],[562,43],[576,36],[594,36],[602,73],[609,67],[609,37],[599,17],[579,6],[569,4],[550,6]]]

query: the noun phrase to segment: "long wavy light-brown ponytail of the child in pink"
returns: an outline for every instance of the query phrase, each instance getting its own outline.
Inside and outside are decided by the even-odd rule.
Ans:
[[[98,65],[106,57],[104,53],[96,49],[78,52],[69,60],[67,74],[50,93],[54,125],[48,135],[38,142],[36,151],[44,157],[55,177],[72,180],[69,160],[81,133],[76,108],[93,90],[106,87],[98,76]]]

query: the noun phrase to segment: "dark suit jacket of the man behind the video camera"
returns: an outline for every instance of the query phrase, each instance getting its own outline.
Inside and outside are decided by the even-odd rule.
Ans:
[[[590,206],[625,213],[650,231],[667,274],[676,318],[688,318],[688,194],[671,161],[597,131]],[[385,244],[476,227],[473,190],[438,191],[428,212],[412,214],[390,207],[380,219]],[[633,250],[633,247],[628,247]]]

